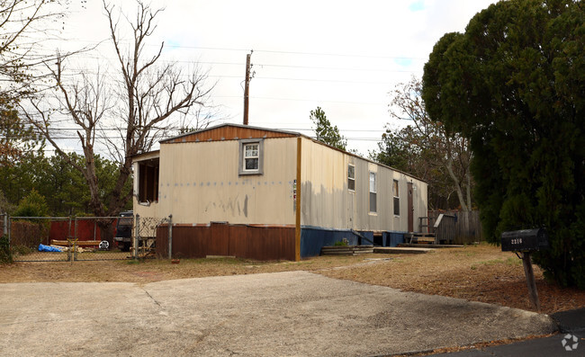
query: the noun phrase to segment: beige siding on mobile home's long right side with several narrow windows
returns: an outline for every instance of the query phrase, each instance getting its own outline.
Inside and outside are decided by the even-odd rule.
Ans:
[[[347,165],[356,190],[347,189]],[[376,212],[370,212],[370,172],[376,174]],[[392,181],[399,181],[400,216],[394,216]],[[374,231],[408,230],[408,187],[413,183],[413,226],[427,215],[427,183],[360,157],[302,139],[302,225]]]

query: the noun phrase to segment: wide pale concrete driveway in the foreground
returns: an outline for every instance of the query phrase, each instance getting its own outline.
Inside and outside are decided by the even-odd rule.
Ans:
[[[524,310],[311,272],[0,284],[0,354],[14,356],[370,356],[555,327]]]

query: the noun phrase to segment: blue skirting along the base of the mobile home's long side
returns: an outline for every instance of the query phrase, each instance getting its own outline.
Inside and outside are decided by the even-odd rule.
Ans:
[[[320,227],[302,227],[301,228],[301,257],[307,258],[317,256],[321,253],[321,248],[326,245],[335,245],[341,242],[343,238],[347,239],[348,245],[375,245],[397,246],[404,243],[403,232],[383,232],[382,238],[376,237],[374,232],[358,231],[363,236],[359,237],[349,229],[328,229]]]

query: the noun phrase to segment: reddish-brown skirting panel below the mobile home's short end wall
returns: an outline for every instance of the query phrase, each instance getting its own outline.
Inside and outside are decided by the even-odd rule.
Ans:
[[[168,256],[168,226],[157,228],[157,254]],[[173,257],[233,255],[257,260],[294,260],[294,227],[230,225],[173,226]]]

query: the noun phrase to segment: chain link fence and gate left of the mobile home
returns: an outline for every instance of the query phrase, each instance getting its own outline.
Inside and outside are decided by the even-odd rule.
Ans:
[[[70,262],[155,257],[157,227],[171,216],[10,217],[0,215],[14,262]],[[122,227],[123,226],[123,227]],[[121,232],[126,232],[121,234]],[[117,237],[116,233],[121,236]],[[169,242],[170,245],[170,242]]]

